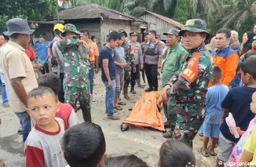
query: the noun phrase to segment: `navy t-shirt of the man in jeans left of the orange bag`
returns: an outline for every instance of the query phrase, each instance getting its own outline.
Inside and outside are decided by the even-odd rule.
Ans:
[[[101,79],[103,82],[108,82],[108,79],[104,73],[102,60],[108,59],[108,70],[111,80],[115,80],[115,60],[113,58],[114,53],[112,49],[109,49],[106,45],[101,48],[100,60],[101,60]]]

